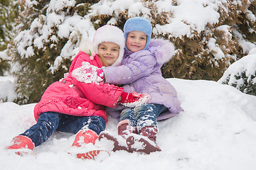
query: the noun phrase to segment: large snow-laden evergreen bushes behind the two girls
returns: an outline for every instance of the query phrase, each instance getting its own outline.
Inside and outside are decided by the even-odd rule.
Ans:
[[[218,80],[255,47],[255,0],[20,0],[16,36],[8,47],[20,103],[39,101],[68,72],[82,40],[105,24],[123,28],[149,19],[153,38],[176,45],[164,77]]]

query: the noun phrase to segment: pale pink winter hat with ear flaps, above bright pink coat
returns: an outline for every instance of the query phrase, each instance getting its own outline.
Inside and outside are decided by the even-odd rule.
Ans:
[[[119,56],[117,60],[111,66],[119,66],[122,62],[124,55],[124,33],[116,26],[105,25],[98,28],[93,38],[93,45],[95,46],[95,52],[98,52],[98,46],[102,42],[114,42],[119,45]]]

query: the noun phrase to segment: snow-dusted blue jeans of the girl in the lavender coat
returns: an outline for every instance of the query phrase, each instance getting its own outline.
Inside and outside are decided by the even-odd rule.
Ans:
[[[166,106],[150,103],[135,108],[125,108],[122,113],[120,120],[129,119],[132,126],[137,127],[138,130],[146,126],[153,126],[157,128],[156,117],[163,113],[166,109]]]

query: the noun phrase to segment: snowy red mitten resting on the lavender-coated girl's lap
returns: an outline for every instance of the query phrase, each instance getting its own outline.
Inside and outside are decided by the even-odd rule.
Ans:
[[[151,100],[149,94],[138,94],[135,91],[132,93],[122,93],[120,103],[127,107],[135,107],[144,103],[148,103]]]

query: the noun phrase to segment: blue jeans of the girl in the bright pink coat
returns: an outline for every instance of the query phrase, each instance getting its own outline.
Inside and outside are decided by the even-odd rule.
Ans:
[[[105,128],[105,120],[100,116],[73,116],[46,112],[39,115],[36,125],[20,135],[31,138],[35,146],[38,146],[46,142],[55,130],[75,134],[81,129],[90,129],[99,135]]]

